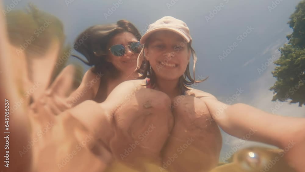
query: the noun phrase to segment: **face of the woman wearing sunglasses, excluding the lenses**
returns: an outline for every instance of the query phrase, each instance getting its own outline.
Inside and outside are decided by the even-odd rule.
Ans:
[[[132,42],[138,42],[138,39],[130,32],[123,32],[115,35],[109,42],[107,49],[116,44],[122,44],[125,46],[125,54],[123,56],[115,56],[110,50],[108,50],[107,61],[111,62],[117,70],[130,75],[135,71],[137,67],[138,53],[131,51],[128,47]]]

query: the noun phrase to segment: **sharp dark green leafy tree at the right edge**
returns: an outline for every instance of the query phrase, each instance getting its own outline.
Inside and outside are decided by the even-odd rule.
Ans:
[[[289,26],[292,34],[287,35],[289,42],[281,47],[281,56],[274,62],[277,65],[272,74],[277,78],[272,101],[287,101],[305,104],[305,0],[296,6],[290,16]]]

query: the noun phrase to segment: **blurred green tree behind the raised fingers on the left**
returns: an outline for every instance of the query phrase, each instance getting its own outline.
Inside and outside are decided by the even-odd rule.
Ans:
[[[64,53],[68,53],[71,49],[71,46],[65,43],[66,36],[64,34],[62,21],[50,13],[39,10],[32,3],[27,6],[26,10],[13,10],[8,13],[6,15],[6,21],[9,41],[14,46],[19,48],[25,43],[25,40],[29,40],[31,36],[35,38],[35,40],[24,50],[27,58],[31,58],[32,54],[38,54],[43,58],[54,39],[59,41],[60,44],[60,50],[56,60],[57,63],[59,63],[59,59],[64,56]],[[51,24],[49,24],[44,31],[39,32],[38,29],[41,26],[44,26],[46,21]],[[68,65],[67,62],[68,60],[64,60],[63,63],[60,63],[59,66],[54,68],[50,84],[52,84],[63,68]],[[54,65],[55,67],[56,64],[50,65]],[[77,88],[83,77],[83,68],[80,64],[74,63],[74,65],[77,70],[74,76],[74,88]]]

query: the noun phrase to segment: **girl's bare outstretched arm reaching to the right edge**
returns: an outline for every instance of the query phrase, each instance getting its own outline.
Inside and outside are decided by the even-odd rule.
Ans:
[[[285,151],[291,167],[296,171],[305,169],[305,118],[274,115],[242,103],[228,105],[212,95],[202,99],[212,120],[226,133],[278,146]]]

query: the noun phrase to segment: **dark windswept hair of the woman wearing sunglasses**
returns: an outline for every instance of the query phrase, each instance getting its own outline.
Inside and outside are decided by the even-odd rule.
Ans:
[[[93,72],[106,74],[109,77],[117,77],[120,73],[111,62],[108,62],[109,51],[107,46],[110,40],[117,34],[131,32],[140,40],[138,29],[127,20],[119,20],[117,24],[95,25],[83,31],[74,42],[74,49],[84,55],[88,62],[76,55],[72,55],[89,66],[95,66]],[[87,39],[84,35],[87,35]],[[138,70],[139,72],[140,70]]]

